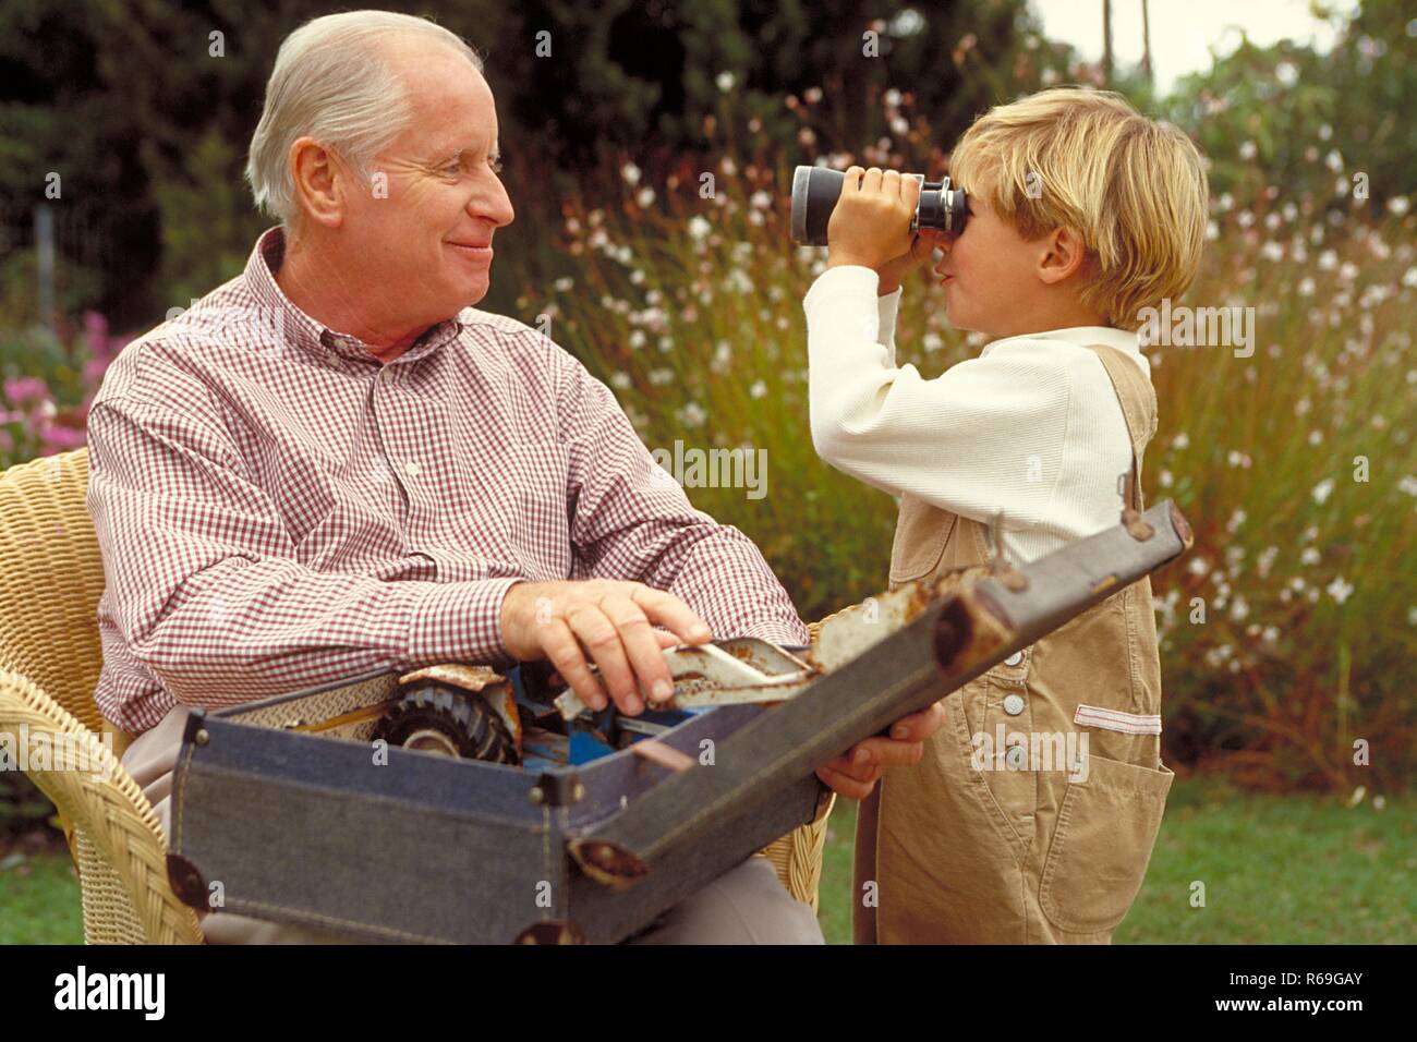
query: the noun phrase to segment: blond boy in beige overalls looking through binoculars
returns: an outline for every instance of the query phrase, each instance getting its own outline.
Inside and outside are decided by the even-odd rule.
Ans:
[[[995,519],[1026,563],[1117,525],[1119,488],[1142,508],[1156,398],[1138,313],[1185,292],[1204,241],[1199,152],[1114,94],[995,108],[949,173],[964,230],[913,241],[918,183],[852,167],[803,302],[812,438],[898,498],[893,586],[985,564]],[[894,323],[901,278],[935,247],[949,320],[992,342],[925,379],[896,364]],[[1108,943],[1173,777],[1149,581],[942,705],[922,760],[862,804],[856,941]]]

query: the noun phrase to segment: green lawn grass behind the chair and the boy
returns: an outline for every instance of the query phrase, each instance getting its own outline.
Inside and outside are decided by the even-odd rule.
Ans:
[[[1417,795],[1377,809],[1314,795],[1241,792],[1217,780],[1172,785],[1146,885],[1118,943],[1353,944],[1417,941]],[[856,804],[837,801],[822,878],[822,929],[850,943]],[[1192,882],[1206,907],[1190,907]],[[64,853],[0,870],[0,944],[84,939]]]

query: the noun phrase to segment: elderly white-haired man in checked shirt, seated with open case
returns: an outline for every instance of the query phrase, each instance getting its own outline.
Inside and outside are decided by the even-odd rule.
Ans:
[[[307,23],[276,57],[248,177],[281,225],[133,342],[89,417],[96,700],[140,733],[123,761],[160,817],[191,706],[550,659],[592,707],[635,715],[672,692],[663,648],[805,645],[757,547],[657,474],[606,387],[470,306],[513,211],[462,40],[385,11]],[[862,798],[938,726],[907,717],[819,777]],[[228,913],[204,929],[327,940]],[[822,937],[754,858],[640,940]]]

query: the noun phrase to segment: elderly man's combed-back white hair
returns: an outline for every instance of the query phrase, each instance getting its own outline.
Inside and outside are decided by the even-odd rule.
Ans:
[[[286,228],[299,215],[289,163],[298,139],[334,149],[367,181],[374,157],[412,121],[408,89],[383,57],[383,41],[398,33],[448,44],[482,72],[482,58],[456,33],[394,11],[326,14],[281,44],[251,136],[247,180],[256,206]]]

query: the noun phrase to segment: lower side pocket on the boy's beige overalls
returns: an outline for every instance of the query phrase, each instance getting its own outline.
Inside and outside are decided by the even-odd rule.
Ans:
[[[1039,882],[1039,904],[1054,926],[1074,933],[1111,930],[1127,916],[1156,844],[1169,767],[1087,758],[1084,780],[1070,780]]]

